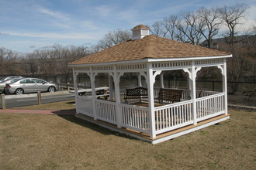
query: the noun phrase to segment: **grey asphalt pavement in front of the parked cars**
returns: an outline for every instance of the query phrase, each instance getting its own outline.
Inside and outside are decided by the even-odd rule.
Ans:
[[[42,96],[42,104],[47,104],[47,103],[52,103],[57,101],[64,101],[64,100],[74,100],[74,93]],[[35,104],[38,104],[37,97],[5,99],[6,108],[22,107],[22,106],[29,106],[29,105],[35,105]],[[2,108],[2,106],[0,108]]]

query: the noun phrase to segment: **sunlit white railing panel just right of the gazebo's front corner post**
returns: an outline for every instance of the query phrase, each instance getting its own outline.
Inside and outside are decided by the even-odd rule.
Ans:
[[[154,108],[156,133],[161,134],[192,124],[192,100]]]

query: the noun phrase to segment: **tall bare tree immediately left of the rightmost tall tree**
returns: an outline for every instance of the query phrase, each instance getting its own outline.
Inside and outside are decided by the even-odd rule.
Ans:
[[[206,39],[208,48],[213,42],[213,37],[218,35],[221,20],[220,20],[220,8],[200,8],[197,11],[199,19],[201,19],[202,27],[199,28],[198,32]]]

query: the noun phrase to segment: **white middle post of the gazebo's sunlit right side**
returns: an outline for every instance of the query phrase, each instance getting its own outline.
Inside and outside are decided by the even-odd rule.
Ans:
[[[192,76],[192,117],[193,117],[193,124],[197,124],[196,120],[196,89],[195,89],[195,77],[196,77],[196,72],[195,72],[195,61],[192,61],[192,69],[191,69],[191,76]]]

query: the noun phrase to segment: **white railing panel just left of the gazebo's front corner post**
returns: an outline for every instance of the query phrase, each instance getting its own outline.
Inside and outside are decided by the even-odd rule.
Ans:
[[[122,126],[144,133],[150,133],[150,115],[148,107],[120,104]]]

